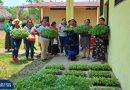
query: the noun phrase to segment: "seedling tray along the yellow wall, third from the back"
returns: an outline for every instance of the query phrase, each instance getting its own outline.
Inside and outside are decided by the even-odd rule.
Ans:
[[[92,84],[96,86],[120,86],[115,78],[92,78]]]

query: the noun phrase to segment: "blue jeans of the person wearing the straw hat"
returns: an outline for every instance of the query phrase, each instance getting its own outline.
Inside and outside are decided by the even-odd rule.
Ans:
[[[18,52],[21,45],[21,41],[22,39],[14,39],[14,38],[11,39],[12,47],[13,47],[12,58],[18,57]]]

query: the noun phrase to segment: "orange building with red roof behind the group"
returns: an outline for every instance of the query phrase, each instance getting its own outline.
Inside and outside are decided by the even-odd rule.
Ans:
[[[66,8],[67,5],[68,7]],[[78,24],[83,24],[83,21],[89,18],[91,19],[91,24],[96,25],[99,18],[99,0],[75,2],[73,5],[69,5],[66,2],[42,2],[19,6],[19,8],[36,7],[41,10],[41,19],[47,18],[50,22],[56,21],[60,23],[62,18],[67,18],[67,20],[74,18]],[[69,17],[70,15],[71,17]]]

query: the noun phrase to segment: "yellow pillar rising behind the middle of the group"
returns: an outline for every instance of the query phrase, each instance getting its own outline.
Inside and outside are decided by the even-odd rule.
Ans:
[[[73,0],[66,0],[66,19],[70,20],[74,18],[74,5]]]

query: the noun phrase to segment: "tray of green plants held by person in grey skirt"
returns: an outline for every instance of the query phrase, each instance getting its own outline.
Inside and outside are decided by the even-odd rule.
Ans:
[[[78,34],[86,34],[88,33],[88,31],[92,28],[92,26],[88,26],[88,25],[80,25],[77,26],[74,31]]]

